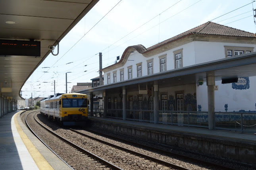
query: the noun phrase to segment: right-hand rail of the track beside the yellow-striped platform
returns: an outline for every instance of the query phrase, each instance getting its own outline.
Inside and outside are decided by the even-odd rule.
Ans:
[[[35,118],[35,114],[34,114],[34,118]],[[76,145],[75,143],[72,143],[71,141],[68,141],[67,139],[59,136],[58,134],[52,132],[51,130],[49,130],[48,128],[46,128],[44,125],[42,125],[36,118],[35,120],[37,121],[38,124],[40,124],[40,126],[42,126],[43,128],[45,128],[48,132],[52,133],[54,136],[56,136],[57,138],[65,141],[66,143],[68,143],[69,145],[72,145],[73,147],[75,147],[76,149],[79,149],[82,152],[85,152],[87,155],[90,155],[92,158],[104,163],[105,165],[109,166],[110,168],[112,168],[113,170],[122,170],[121,168],[119,168],[118,166],[115,166],[114,164],[98,157],[97,155],[94,155],[93,153],[90,153],[89,151],[79,147],[78,145]]]

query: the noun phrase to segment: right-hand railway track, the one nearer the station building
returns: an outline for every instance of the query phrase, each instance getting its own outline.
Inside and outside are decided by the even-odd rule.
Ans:
[[[39,115],[39,117],[40,117],[40,115]],[[49,124],[49,123],[46,122],[46,124]],[[49,124],[49,125],[52,126],[52,124]],[[63,130],[63,129],[61,129],[61,130]],[[69,130],[67,130],[67,131],[69,131]],[[140,143],[127,141],[127,140],[124,140],[124,139],[116,138],[114,136],[110,136],[110,135],[107,135],[107,134],[101,134],[99,132],[95,132],[95,131],[88,130],[88,129],[86,129],[86,130],[79,129],[80,132],[75,130],[75,129],[70,129],[70,131],[72,131],[74,134],[70,134],[70,132],[67,132],[66,135],[67,136],[69,136],[69,135],[73,136],[72,137],[73,139],[71,139],[71,141],[73,140],[72,142],[76,143],[75,145],[79,145],[79,147],[86,147],[86,145],[88,143],[99,142],[99,144],[96,144],[96,145],[101,146],[101,147],[97,147],[96,148],[96,152],[95,151],[90,151],[91,153],[94,153],[94,154],[98,155],[98,153],[100,153],[101,150],[102,150],[101,149],[102,145],[104,145],[103,148],[104,148],[104,150],[106,150],[105,152],[113,153],[112,154],[113,158],[111,158],[111,159],[105,158],[105,159],[107,159],[108,162],[112,162],[112,163],[117,164],[117,165],[118,165],[119,161],[118,161],[118,159],[114,158],[114,155],[117,155],[115,152],[122,152],[123,155],[125,155],[125,156],[126,155],[127,156],[132,156],[133,159],[135,159],[135,160],[129,160],[130,162],[138,163],[137,160],[145,161],[145,162],[150,162],[151,164],[154,164],[154,165],[156,164],[158,169],[166,169],[166,168],[182,169],[182,170],[194,169],[193,166],[191,166],[191,167],[185,166],[186,168],[184,168],[184,167],[181,167],[179,165],[170,163],[168,161],[155,158],[154,156],[153,157],[149,156],[150,154],[147,155],[147,154],[141,153],[141,151],[133,151],[132,149],[127,149],[127,147],[120,147],[120,146],[115,145],[113,143],[106,142],[105,139],[102,140],[102,139],[94,138],[94,137],[92,137],[90,135],[85,134],[86,131],[90,131],[90,132],[92,132],[94,134],[97,134],[97,135],[100,135],[100,136],[104,136],[105,138],[114,139],[114,140],[116,140],[116,143],[117,143],[117,141],[121,141],[121,142],[123,142],[123,143],[125,143],[127,145],[136,146],[138,148],[145,148],[145,150],[149,150],[149,152],[159,153],[159,155],[162,154],[162,155],[165,155],[166,157],[179,157],[179,159],[183,159],[183,161],[185,160],[185,162],[188,161],[188,162],[192,162],[192,163],[195,163],[195,164],[202,165],[202,169],[218,169],[218,170],[219,169],[225,169],[225,170],[240,169],[240,168],[231,168],[231,167],[223,166],[221,164],[214,164],[212,162],[207,162],[207,161],[203,161],[203,160],[200,160],[200,159],[196,159],[196,158],[192,158],[192,157],[187,157],[185,155],[180,155],[180,154],[177,154],[177,153],[171,153],[171,152],[166,151],[166,150],[161,150],[161,149],[158,149],[158,148],[155,148],[155,147],[150,147],[148,145],[142,145]],[[90,138],[93,141],[87,141],[88,139],[83,139],[83,137],[84,138]],[[115,141],[114,141],[114,143],[115,143]],[[110,147],[110,148],[108,148],[108,147]],[[117,150],[119,150],[119,151],[117,151]],[[141,149],[141,150],[143,150],[143,149]],[[112,157],[112,156],[110,156],[110,157]],[[123,167],[123,169],[132,169],[132,168],[128,168],[128,166],[127,167],[120,166],[120,165],[118,165],[118,166],[119,167]],[[133,168],[133,169],[141,169],[141,168],[137,167],[137,168]],[[154,169],[154,168],[151,167],[151,169]],[[201,169],[201,168],[198,168],[198,169]]]

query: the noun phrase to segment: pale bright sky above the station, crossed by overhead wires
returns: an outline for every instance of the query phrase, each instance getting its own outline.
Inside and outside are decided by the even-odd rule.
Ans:
[[[53,95],[54,80],[65,93],[67,72],[69,92],[99,76],[99,52],[108,67],[128,46],[148,48],[208,21],[255,33],[254,8],[254,0],[99,0],[28,78],[22,97]]]

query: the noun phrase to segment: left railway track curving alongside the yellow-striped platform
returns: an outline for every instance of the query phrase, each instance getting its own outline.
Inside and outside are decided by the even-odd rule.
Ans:
[[[48,128],[46,128],[45,126],[43,126],[40,122],[38,122],[38,120],[36,120],[36,118],[35,118],[35,114],[36,113],[34,113],[34,120],[40,125],[40,126],[42,126],[43,128],[44,128],[44,130],[47,130],[48,132],[50,132],[51,134],[52,134],[52,138],[50,138],[49,140],[53,140],[53,138],[57,138],[57,139],[54,139],[54,141],[58,141],[58,144],[57,145],[59,145],[59,146],[64,146],[66,149],[66,151],[64,150],[64,152],[67,152],[67,153],[69,153],[69,155],[72,155],[72,157],[76,157],[76,159],[77,160],[86,160],[86,161],[89,161],[90,163],[92,162],[92,163],[94,163],[95,164],[95,167],[97,168],[97,169],[100,169],[100,168],[102,168],[102,169],[106,169],[106,166],[107,167],[109,167],[109,168],[111,168],[111,169],[113,169],[113,170],[122,170],[122,168],[119,168],[119,167],[117,167],[117,166],[115,166],[114,164],[112,164],[112,163],[110,163],[110,162],[108,162],[108,161],[106,161],[106,160],[104,160],[104,159],[102,159],[102,158],[100,158],[100,157],[98,157],[97,155],[94,155],[93,153],[90,153],[89,151],[87,151],[87,150],[85,150],[85,149],[83,149],[83,148],[81,148],[81,147],[79,147],[78,145],[76,145],[75,143],[72,143],[72,142],[70,142],[70,141],[68,141],[67,139],[65,139],[65,138],[63,138],[63,137],[61,137],[61,136],[59,136],[58,134],[56,134],[56,133],[54,133],[54,132],[52,132],[51,130],[49,130]],[[27,126],[29,127],[29,129],[31,130],[31,132],[33,133],[33,134],[35,134],[36,136],[37,136],[37,138],[38,139],[40,139],[40,137],[36,134],[36,132],[34,132],[34,130],[32,130],[32,128],[29,126],[29,123],[28,123],[28,121],[27,121],[27,117],[29,116],[30,114],[28,114],[27,116],[26,116],[26,118],[25,118],[25,120],[26,120],[26,124],[27,124]],[[42,139],[40,139],[40,141],[42,141],[43,142],[43,140]],[[45,141],[45,140],[44,140]],[[43,142],[44,143],[44,142]],[[46,144],[46,142],[44,143],[48,148],[52,148],[52,147],[54,147],[51,143],[50,143],[50,145],[49,144]],[[56,145],[56,143],[54,143],[55,145]],[[48,146],[49,145],[49,146]],[[56,147],[55,147],[56,148]],[[56,150],[56,149],[51,149],[51,151],[53,151],[60,159],[62,159],[61,158],[61,155],[62,155],[62,153],[60,153],[60,151],[58,150],[58,151],[54,151],[54,150]],[[60,153],[60,154],[58,154],[58,153]],[[60,155],[60,156],[59,156]],[[74,166],[74,165],[69,165],[68,164],[68,162],[70,162],[70,163],[72,163],[72,161],[71,160],[68,160],[67,158],[64,160],[64,159],[62,159],[71,169],[73,169],[73,167],[71,167],[71,166]],[[88,162],[85,162],[84,164],[86,165]],[[103,166],[102,166],[102,164],[103,164]],[[105,165],[105,166],[104,166]],[[79,167],[75,167],[74,169],[80,169]]]

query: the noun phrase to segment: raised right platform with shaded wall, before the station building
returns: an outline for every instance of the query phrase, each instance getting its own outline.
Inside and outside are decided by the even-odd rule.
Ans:
[[[92,127],[256,165],[256,135],[188,126],[91,117]]]

